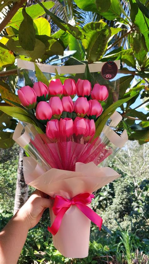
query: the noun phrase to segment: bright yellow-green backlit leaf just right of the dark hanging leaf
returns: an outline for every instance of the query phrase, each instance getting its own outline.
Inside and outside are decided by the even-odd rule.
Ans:
[[[36,29],[36,35],[51,35],[51,27],[46,18],[37,18],[34,20],[34,27]]]

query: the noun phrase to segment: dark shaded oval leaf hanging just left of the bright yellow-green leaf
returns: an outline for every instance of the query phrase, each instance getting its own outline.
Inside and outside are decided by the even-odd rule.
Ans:
[[[24,50],[34,50],[35,47],[35,29],[32,18],[22,9],[23,21],[19,27],[19,44]]]

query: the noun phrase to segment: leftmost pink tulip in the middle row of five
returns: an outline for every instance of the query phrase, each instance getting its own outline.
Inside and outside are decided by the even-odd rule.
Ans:
[[[46,125],[52,117],[52,109],[47,102],[41,101],[36,108],[36,118]]]

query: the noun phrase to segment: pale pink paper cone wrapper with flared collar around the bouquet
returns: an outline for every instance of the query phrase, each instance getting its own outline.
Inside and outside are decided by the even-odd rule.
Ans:
[[[112,182],[120,175],[109,167],[97,167],[93,162],[77,162],[75,172],[52,168],[45,172],[32,158],[23,160],[25,182],[47,193],[51,197],[59,195],[72,199],[81,193],[93,193]],[[87,205],[91,208],[91,204]],[[56,216],[50,208],[51,224]],[[88,256],[91,220],[76,205],[63,215],[56,235],[52,235],[53,245],[65,257],[84,258]]]

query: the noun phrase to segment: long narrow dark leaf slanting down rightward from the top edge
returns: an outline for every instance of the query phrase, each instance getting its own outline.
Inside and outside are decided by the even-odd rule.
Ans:
[[[38,1],[37,1],[38,2]],[[69,23],[66,23],[64,20],[62,20],[61,18],[59,18],[58,16],[56,16],[55,14],[53,14],[52,12],[50,12],[47,8],[45,8],[45,6],[38,2],[39,5],[45,10],[46,14],[49,15],[51,17],[51,19],[53,20],[53,22],[63,31],[67,31],[70,34],[72,34],[76,39],[81,39],[83,36],[80,32],[80,30],[77,27],[74,27],[72,25],[70,25]]]

